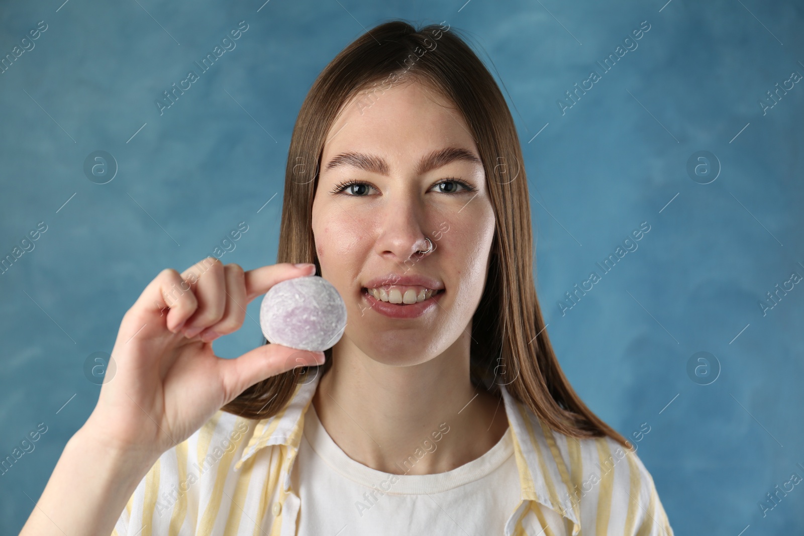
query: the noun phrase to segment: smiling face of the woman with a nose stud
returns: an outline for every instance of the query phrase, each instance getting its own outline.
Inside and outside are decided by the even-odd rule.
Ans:
[[[336,346],[391,365],[429,361],[459,339],[468,348],[494,211],[456,108],[417,83],[347,103],[327,133],[312,219],[320,275],[347,305]],[[425,237],[433,250],[418,253],[429,248]],[[406,303],[414,297],[426,299]]]

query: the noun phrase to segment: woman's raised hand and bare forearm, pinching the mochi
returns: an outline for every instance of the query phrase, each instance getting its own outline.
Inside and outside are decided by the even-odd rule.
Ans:
[[[322,352],[275,344],[236,359],[215,356],[211,346],[243,325],[249,301],[313,270],[274,264],[244,273],[210,257],[182,274],[159,273],[123,315],[116,369],[107,369],[95,409],[64,446],[21,536],[110,534],[162,452],[254,383],[323,362]]]

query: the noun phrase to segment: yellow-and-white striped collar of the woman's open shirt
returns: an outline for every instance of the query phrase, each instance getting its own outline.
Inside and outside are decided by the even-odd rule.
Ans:
[[[254,434],[248,440],[240,460],[235,464],[235,470],[239,470],[244,461],[254,456],[261,448],[278,444],[289,448],[288,456],[291,458],[289,468],[293,467],[293,459],[301,444],[304,415],[318,387],[318,379],[317,374],[308,383],[297,385],[293,397],[283,411],[256,422]],[[574,536],[580,531],[580,514],[577,502],[572,501],[569,492],[569,472],[564,461],[564,456],[568,456],[568,438],[548,428],[523,403],[514,399],[505,387],[500,386],[500,389],[503,391],[503,402],[514,440],[515,460],[519,468],[523,499],[523,503],[519,505],[517,513],[511,517],[509,523],[516,523],[520,513],[525,513],[530,506],[527,501],[536,501],[572,521]],[[289,470],[288,474],[284,475],[285,489],[288,489],[290,484]],[[511,534],[510,530],[506,530],[506,533]]]

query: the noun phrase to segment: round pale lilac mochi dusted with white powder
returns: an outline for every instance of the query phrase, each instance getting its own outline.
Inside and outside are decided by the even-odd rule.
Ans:
[[[280,281],[265,293],[260,328],[268,342],[297,350],[324,351],[343,336],[347,306],[321,276]]]

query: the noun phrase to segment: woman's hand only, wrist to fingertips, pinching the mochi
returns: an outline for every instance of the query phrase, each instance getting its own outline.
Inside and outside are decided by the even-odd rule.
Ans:
[[[289,263],[244,272],[211,257],[181,274],[160,272],[123,316],[112,350],[116,370],[107,369],[114,374],[100,389],[84,436],[155,462],[247,387],[323,362],[322,352],[276,344],[225,359],[211,345],[240,329],[255,297],[281,280],[311,273],[312,264]]]

